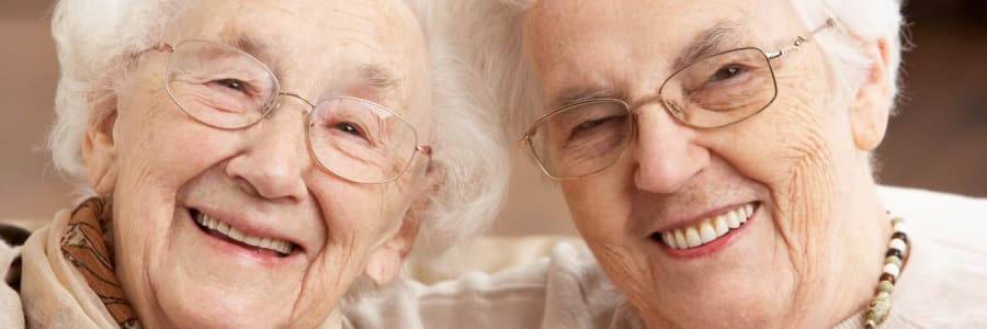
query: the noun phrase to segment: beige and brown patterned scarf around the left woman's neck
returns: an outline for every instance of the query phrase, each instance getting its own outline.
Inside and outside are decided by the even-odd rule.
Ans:
[[[27,327],[140,328],[113,270],[111,215],[109,203],[89,198],[24,245]]]

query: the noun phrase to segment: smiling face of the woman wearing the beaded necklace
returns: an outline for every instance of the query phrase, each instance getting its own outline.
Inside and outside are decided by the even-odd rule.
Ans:
[[[587,97],[636,104],[690,49],[770,53],[815,27],[787,1],[542,0],[523,36],[544,114]],[[887,223],[866,151],[883,125],[860,123],[886,120],[887,93],[873,87],[884,81],[874,75],[839,105],[824,97],[819,45],[771,66],[778,98],[763,112],[699,129],[643,104],[616,163],[561,182],[580,234],[651,328],[835,325],[873,292]],[[713,78],[735,73],[723,72]]]

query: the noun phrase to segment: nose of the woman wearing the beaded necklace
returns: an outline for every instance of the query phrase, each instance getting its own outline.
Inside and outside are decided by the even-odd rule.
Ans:
[[[637,109],[637,136],[632,157],[634,184],[653,193],[674,193],[710,162],[710,152],[695,144],[701,132],[678,122],[659,104]]]

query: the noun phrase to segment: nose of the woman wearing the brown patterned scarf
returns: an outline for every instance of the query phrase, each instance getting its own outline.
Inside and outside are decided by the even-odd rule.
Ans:
[[[247,192],[269,200],[300,200],[308,193],[303,177],[311,163],[303,126],[307,111],[286,111],[294,110],[291,104],[298,103],[300,110],[308,105],[288,99],[283,98],[280,109],[242,132],[243,150],[226,168]]]

